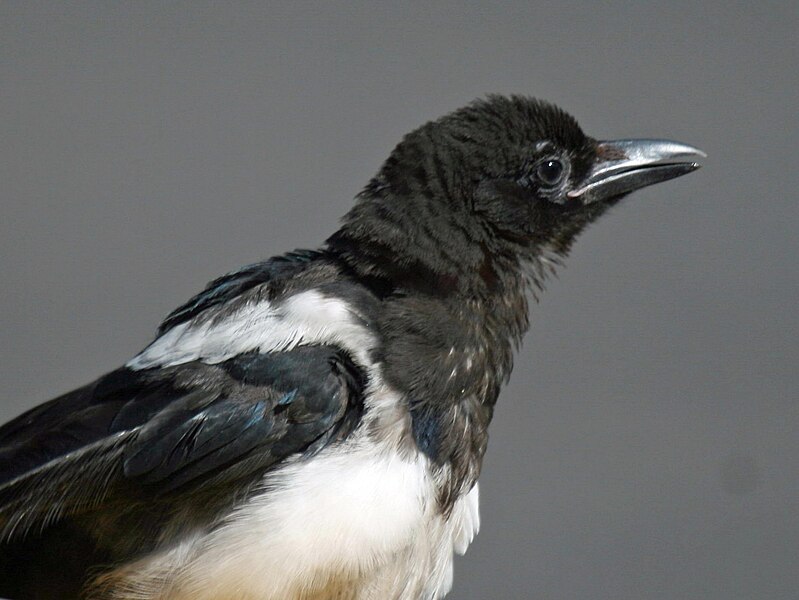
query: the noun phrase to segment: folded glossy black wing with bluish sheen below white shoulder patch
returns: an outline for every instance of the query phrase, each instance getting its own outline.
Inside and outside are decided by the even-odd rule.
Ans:
[[[261,475],[351,431],[362,386],[332,345],[113,371],[0,428],[0,539]]]

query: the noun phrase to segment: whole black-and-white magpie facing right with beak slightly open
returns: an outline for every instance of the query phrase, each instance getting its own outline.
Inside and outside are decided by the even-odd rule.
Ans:
[[[219,277],[0,428],[0,596],[444,598],[528,306],[587,226],[704,157],[524,95],[407,134],[317,249]]]

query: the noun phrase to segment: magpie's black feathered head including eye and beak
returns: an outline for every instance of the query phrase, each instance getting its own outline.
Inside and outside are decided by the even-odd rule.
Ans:
[[[701,157],[679,142],[598,141],[552,104],[489,96],[405,136],[329,243],[362,272],[473,293],[565,255],[622,197]]]

